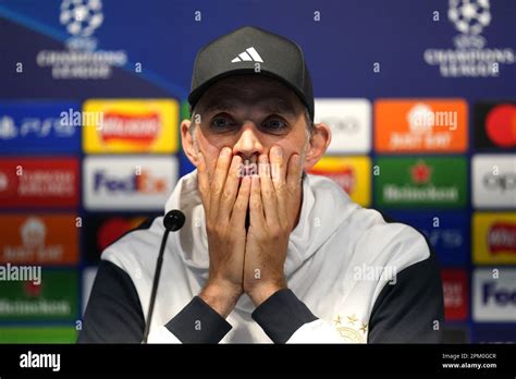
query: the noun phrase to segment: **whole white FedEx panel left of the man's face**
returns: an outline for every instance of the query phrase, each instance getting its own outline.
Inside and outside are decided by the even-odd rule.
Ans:
[[[176,157],[87,157],[84,203],[90,210],[161,210],[177,181]]]

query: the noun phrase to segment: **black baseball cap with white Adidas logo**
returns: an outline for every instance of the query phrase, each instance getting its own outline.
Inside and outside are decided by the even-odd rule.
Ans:
[[[191,107],[218,80],[246,73],[265,74],[285,84],[314,120],[314,90],[303,50],[290,39],[253,26],[219,37],[197,52],[188,95]]]

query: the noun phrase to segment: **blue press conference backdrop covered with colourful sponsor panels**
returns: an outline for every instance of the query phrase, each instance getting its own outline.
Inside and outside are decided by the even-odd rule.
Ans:
[[[0,0],[0,342],[75,341],[102,249],[193,169],[195,52],[243,25],[305,51],[314,173],[434,246],[446,341],[516,341],[515,1]]]

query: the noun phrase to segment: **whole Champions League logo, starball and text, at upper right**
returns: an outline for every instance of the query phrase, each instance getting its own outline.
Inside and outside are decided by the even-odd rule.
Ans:
[[[515,52],[508,47],[486,48],[481,33],[492,23],[491,13],[489,0],[450,0],[447,17],[459,32],[453,38],[455,50],[429,48],[425,62],[438,65],[443,77],[500,76],[501,64],[513,64]]]

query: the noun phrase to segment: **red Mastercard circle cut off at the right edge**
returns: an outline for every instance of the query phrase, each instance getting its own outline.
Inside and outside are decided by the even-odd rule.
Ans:
[[[516,106],[494,107],[486,118],[486,133],[501,147],[516,147]]]

